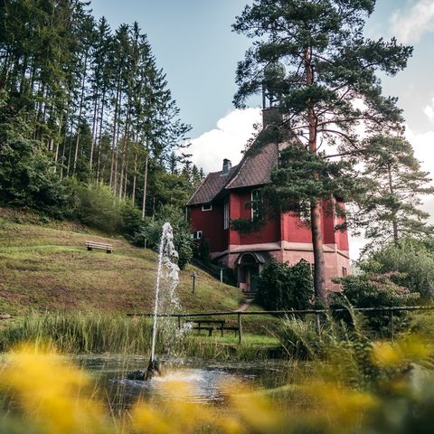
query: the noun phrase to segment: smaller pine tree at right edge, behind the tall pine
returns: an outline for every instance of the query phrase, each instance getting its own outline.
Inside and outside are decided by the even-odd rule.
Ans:
[[[363,165],[369,188],[361,203],[360,224],[372,241],[368,248],[432,233],[426,223],[429,214],[420,210],[420,195],[434,193],[434,187],[404,137],[371,137],[363,151]]]

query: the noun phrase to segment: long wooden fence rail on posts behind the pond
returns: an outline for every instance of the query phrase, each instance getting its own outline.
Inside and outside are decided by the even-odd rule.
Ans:
[[[349,309],[344,307],[330,308],[330,309],[301,309],[301,310],[262,310],[262,311],[222,311],[222,312],[192,312],[192,313],[179,313],[179,314],[157,314],[158,317],[170,317],[178,319],[178,326],[181,326],[181,318],[187,317],[200,317],[200,316],[237,316],[239,327],[239,344],[242,344],[242,321],[241,316],[291,316],[291,315],[315,315],[317,320],[321,315],[329,312],[348,312]],[[393,330],[393,314],[395,312],[410,312],[410,311],[429,311],[434,310],[434,306],[401,306],[401,307],[353,307],[354,312],[387,312],[391,316],[392,338]],[[150,313],[136,313],[127,314],[127,316],[148,316],[152,317],[154,314]]]

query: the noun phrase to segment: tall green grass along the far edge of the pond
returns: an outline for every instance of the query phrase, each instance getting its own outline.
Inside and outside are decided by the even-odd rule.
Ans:
[[[31,313],[6,323],[0,334],[0,351],[17,344],[54,344],[67,354],[141,354],[150,353],[152,320],[100,312]],[[265,337],[246,335],[238,345],[233,335],[209,337],[195,331],[179,331],[174,319],[161,319],[156,353],[169,356],[199,357],[221,361],[266,359],[270,347]]]

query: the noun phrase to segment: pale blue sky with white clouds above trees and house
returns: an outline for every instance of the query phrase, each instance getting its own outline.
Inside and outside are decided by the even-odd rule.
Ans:
[[[92,0],[90,7],[106,16],[115,29],[137,23],[147,34],[156,61],[184,122],[192,125],[193,162],[205,172],[221,170],[222,159],[233,164],[260,119],[259,99],[236,110],[235,70],[251,41],[231,32],[235,16],[249,0]],[[434,177],[434,0],[377,0],[366,36],[396,37],[414,46],[408,67],[393,78],[383,77],[383,93],[399,98],[406,134],[423,167]],[[434,198],[424,207],[434,215]],[[434,220],[433,220],[434,222]],[[352,256],[363,243],[354,240]]]

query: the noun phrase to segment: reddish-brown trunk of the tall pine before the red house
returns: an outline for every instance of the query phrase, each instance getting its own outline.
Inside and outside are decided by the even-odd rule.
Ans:
[[[307,86],[314,84],[314,72],[311,59],[312,52],[309,48],[305,52]],[[307,122],[309,125],[309,151],[312,154],[316,154],[317,119],[314,109],[307,110]],[[312,175],[315,178],[318,177],[318,174],[315,172]],[[312,199],[310,205],[310,225],[312,231],[312,248],[314,250],[315,296],[323,303],[326,303],[324,241],[321,228],[321,202],[318,199]]]

